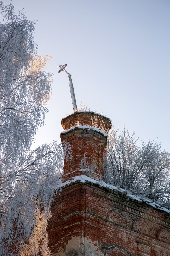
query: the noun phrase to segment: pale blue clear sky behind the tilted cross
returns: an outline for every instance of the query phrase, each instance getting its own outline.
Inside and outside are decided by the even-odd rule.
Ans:
[[[4,0],[4,4],[10,1]],[[54,74],[45,126],[32,146],[61,142],[61,119],[73,113],[66,72],[77,105],[103,112],[112,125],[170,152],[169,0],[12,0],[37,20],[38,55],[51,55]]]

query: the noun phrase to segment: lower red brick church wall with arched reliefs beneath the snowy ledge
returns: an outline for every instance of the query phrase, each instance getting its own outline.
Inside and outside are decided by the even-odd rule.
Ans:
[[[48,228],[53,255],[170,255],[165,211],[89,181],[67,185],[54,200]]]

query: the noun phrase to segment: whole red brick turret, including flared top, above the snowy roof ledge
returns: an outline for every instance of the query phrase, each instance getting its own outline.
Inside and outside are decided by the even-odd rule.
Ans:
[[[92,125],[96,126],[90,127]],[[84,174],[79,171],[84,156],[88,164],[94,166],[91,177],[103,180],[103,154],[107,144],[105,132],[111,128],[109,118],[94,112],[75,112],[62,119],[62,126],[65,131],[61,132],[61,140],[71,145],[73,156],[71,162],[64,162],[63,181]],[[101,127],[104,131],[98,129]]]

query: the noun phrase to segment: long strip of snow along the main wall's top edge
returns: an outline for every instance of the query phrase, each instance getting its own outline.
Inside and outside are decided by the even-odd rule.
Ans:
[[[115,187],[115,186],[110,185],[110,184],[106,184],[104,181],[97,181],[97,180],[94,180],[94,179],[92,179],[92,178],[90,178],[90,177],[87,177],[86,175],[76,176],[76,177],[74,177],[74,178],[72,178],[72,179],[70,179],[70,180],[68,180],[68,181],[66,181],[66,182],[64,182],[64,183],[62,183],[61,186],[64,187],[64,186],[69,185],[70,183],[75,182],[75,181],[80,181],[80,182],[82,182],[82,183],[86,183],[86,181],[89,181],[89,182],[91,182],[91,183],[98,184],[100,187],[109,188],[109,189],[111,189],[111,190],[118,190],[118,191],[120,191],[120,192],[122,192],[122,193],[125,192],[126,195],[127,195],[128,197],[132,198],[132,199],[135,199],[135,200],[140,201],[140,202],[146,202],[147,204],[151,205],[152,207],[154,207],[154,208],[156,208],[156,209],[159,209],[159,210],[162,210],[162,211],[165,211],[165,212],[170,213],[170,210],[168,210],[168,209],[166,209],[165,207],[162,207],[161,205],[159,205],[159,204],[157,204],[157,203],[151,201],[150,199],[147,199],[147,198],[142,198],[142,199],[141,199],[141,198],[139,198],[139,197],[137,197],[137,196],[135,196],[135,195],[130,194],[130,192],[127,191],[127,190],[125,190],[125,189],[118,188],[118,187]]]

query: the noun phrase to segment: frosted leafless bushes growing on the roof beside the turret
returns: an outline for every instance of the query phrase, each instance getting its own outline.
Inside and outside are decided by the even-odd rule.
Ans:
[[[161,144],[139,138],[124,127],[108,133],[105,181],[170,208],[170,154]]]

